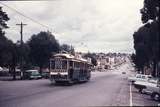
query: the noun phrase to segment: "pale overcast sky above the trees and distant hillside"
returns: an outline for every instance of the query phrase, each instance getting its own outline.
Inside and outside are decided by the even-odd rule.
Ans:
[[[6,36],[20,40],[24,26],[24,41],[40,31],[50,31],[60,44],[74,46],[78,52],[132,53],[133,33],[142,25],[140,9],[143,0],[52,0],[3,1],[2,3],[30,17],[44,27],[17,12],[2,6],[10,20]]]

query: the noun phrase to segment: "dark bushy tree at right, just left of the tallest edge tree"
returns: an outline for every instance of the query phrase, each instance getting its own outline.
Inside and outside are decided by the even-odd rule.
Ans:
[[[143,73],[144,66],[150,67],[155,57],[154,36],[152,35],[153,23],[146,23],[133,34],[134,48],[136,50],[135,65]]]

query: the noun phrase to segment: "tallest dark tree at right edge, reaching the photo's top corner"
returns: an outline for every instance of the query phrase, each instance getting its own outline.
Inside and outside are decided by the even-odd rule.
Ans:
[[[159,4],[159,0],[144,0],[144,6],[141,9],[142,22],[148,24],[150,23],[149,20],[152,20],[152,23],[150,24],[150,44],[152,45],[151,52],[153,55],[153,76],[156,75],[157,66],[160,61]]]

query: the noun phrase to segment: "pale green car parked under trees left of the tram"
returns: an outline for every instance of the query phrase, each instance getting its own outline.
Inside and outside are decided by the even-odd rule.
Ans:
[[[26,70],[24,72],[24,79],[41,79],[42,76],[40,75],[38,70]]]

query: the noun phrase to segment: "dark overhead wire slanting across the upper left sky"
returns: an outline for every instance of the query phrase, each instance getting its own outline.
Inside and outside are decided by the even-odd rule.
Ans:
[[[18,13],[19,15],[21,15],[21,16],[23,16],[23,17],[29,19],[29,20],[31,20],[31,21],[33,21],[33,22],[35,22],[35,23],[37,23],[37,24],[39,24],[39,25],[41,25],[41,26],[43,26],[43,27],[45,27],[45,28],[47,28],[47,29],[50,29],[50,27],[48,27],[47,25],[44,25],[44,24],[38,22],[37,20],[35,20],[35,19],[31,18],[31,17],[28,17],[28,16],[24,15],[23,13],[17,11],[16,9],[14,9],[14,8],[12,8],[12,7],[6,5],[6,4],[4,4],[4,3],[2,3],[2,2],[0,2],[0,4],[2,4],[3,6],[5,6],[5,7],[11,9],[12,11],[15,11],[15,12]],[[51,30],[52,30],[52,29],[51,29]]]

